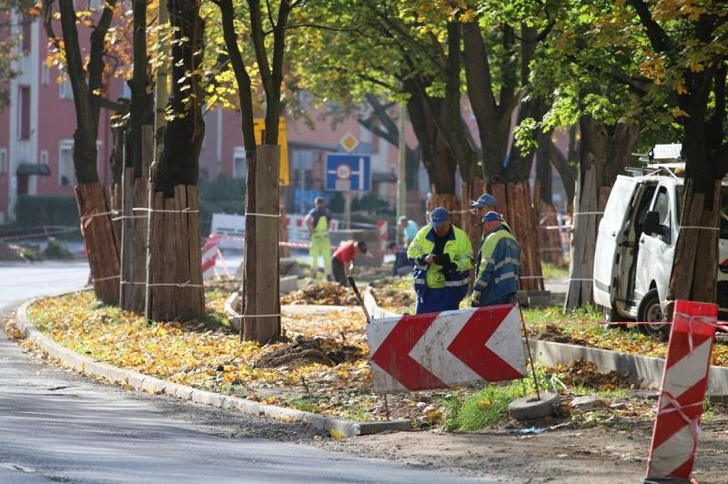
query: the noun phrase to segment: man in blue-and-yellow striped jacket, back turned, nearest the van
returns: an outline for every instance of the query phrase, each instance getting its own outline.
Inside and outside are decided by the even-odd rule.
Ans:
[[[503,226],[498,212],[480,218],[485,240],[475,266],[472,306],[494,306],[515,302],[521,276],[521,245]]]

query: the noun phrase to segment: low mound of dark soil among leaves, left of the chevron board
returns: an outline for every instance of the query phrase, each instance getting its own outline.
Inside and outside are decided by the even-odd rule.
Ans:
[[[362,348],[335,339],[298,337],[295,342],[279,346],[263,355],[255,367],[296,368],[313,363],[334,367],[340,363],[357,361],[365,356]]]

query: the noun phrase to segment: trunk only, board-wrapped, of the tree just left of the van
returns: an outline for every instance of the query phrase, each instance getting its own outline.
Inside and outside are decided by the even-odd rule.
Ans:
[[[569,287],[564,309],[592,301],[594,247],[602,213],[617,175],[630,161],[640,126],[607,126],[582,116],[579,180],[574,197],[569,260]]]

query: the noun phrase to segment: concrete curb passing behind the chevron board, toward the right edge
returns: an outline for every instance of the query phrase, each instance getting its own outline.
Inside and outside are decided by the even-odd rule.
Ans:
[[[364,305],[371,318],[393,318],[400,315],[380,308],[369,287],[364,290]],[[377,316],[375,316],[377,315]],[[611,349],[581,347],[553,341],[531,339],[533,358],[544,365],[568,365],[574,359],[584,358],[596,364],[601,371],[617,370],[642,380],[642,384],[660,387],[664,358],[642,357]],[[713,399],[728,398],[728,368],[711,366],[708,369],[708,395]]]

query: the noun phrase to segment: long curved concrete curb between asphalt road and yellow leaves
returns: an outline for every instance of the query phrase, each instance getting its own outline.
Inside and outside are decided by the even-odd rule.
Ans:
[[[94,361],[91,358],[79,355],[75,351],[62,347],[56,341],[46,338],[27,317],[27,309],[37,299],[26,301],[17,309],[16,324],[25,338],[35,342],[38,347],[48,353],[48,356],[57,358],[67,367],[74,368],[79,373],[93,377],[103,377],[114,383],[126,385],[136,390],[148,393],[166,394],[170,397],[190,400],[196,403],[211,405],[217,408],[230,408],[244,414],[256,417],[268,417],[286,422],[307,423],[315,429],[335,430],[343,437],[369,435],[387,430],[409,430],[409,420],[389,420],[355,422],[343,418],[330,418],[321,414],[305,412],[295,408],[284,408],[267,405],[247,398],[231,397],[197,388],[179,385],[160,378],[149,377],[133,370],[116,368],[107,363]]]

